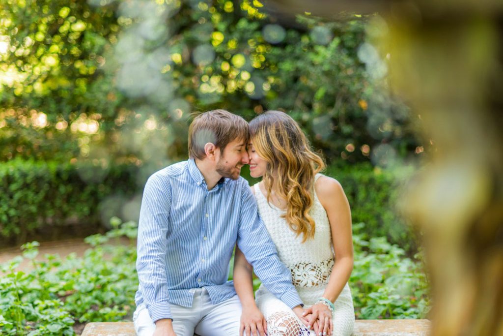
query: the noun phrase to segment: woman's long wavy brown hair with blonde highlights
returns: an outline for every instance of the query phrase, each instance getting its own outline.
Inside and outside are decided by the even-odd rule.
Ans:
[[[249,123],[250,140],[257,154],[267,162],[263,176],[267,200],[271,191],[286,199],[286,219],[302,242],[314,237],[315,223],[309,215],[313,205],[314,176],[325,168],[299,125],[288,114],[267,111]]]

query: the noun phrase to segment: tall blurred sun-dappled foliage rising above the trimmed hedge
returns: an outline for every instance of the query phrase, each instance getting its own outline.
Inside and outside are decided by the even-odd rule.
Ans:
[[[366,17],[287,18],[248,0],[104,3],[0,9],[0,161],[81,161],[100,147],[112,160],[177,160],[189,113],[212,108],[246,119],[283,109],[328,161],[416,147],[408,110],[369,76]],[[157,141],[131,142],[144,133]]]

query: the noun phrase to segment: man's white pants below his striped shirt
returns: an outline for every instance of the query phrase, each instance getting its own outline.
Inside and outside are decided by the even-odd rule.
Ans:
[[[194,290],[192,307],[170,304],[173,329],[177,336],[238,336],[241,303],[237,295],[218,304],[212,304],[206,289]],[[152,336],[155,324],[145,304],[136,307],[133,314],[134,329],[138,336]]]

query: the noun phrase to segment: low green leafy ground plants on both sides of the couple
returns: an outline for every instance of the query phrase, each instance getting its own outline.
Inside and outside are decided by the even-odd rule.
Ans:
[[[23,256],[0,265],[0,327],[5,334],[72,335],[76,322],[130,318],[138,288],[137,225],[118,218],[110,222],[111,231],[86,238],[92,248],[82,258],[46,254],[37,261],[39,244],[31,242],[22,246]],[[363,227],[354,226],[350,279],[357,318],[424,318],[430,303],[422,260],[404,257],[384,237],[368,239]],[[30,272],[18,270],[23,260],[31,262]],[[254,288],[259,285],[254,279]]]

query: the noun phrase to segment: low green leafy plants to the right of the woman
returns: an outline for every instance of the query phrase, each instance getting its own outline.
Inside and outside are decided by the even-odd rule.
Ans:
[[[405,251],[384,237],[369,239],[362,233],[364,226],[353,227],[355,261],[350,286],[356,317],[425,318],[430,302],[422,260],[404,257]]]

